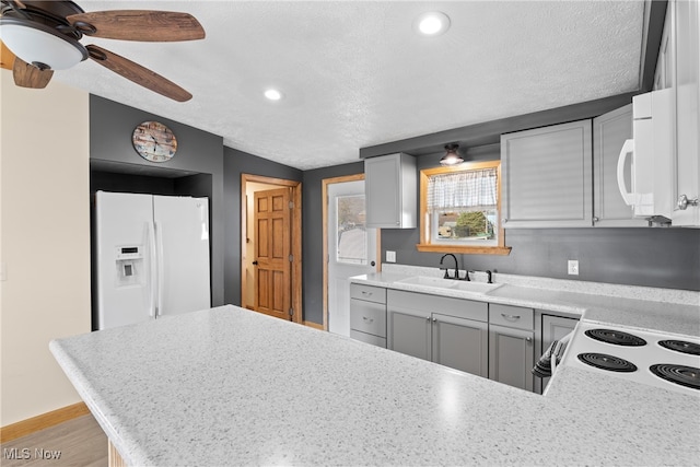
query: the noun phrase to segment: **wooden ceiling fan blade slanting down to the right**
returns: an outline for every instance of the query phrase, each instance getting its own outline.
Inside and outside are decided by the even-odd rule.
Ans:
[[[190,93],[174,82],[139,63],[92,44],[85,48],[94,61],[145,89],[177,102],[189,101],[192,97]]]

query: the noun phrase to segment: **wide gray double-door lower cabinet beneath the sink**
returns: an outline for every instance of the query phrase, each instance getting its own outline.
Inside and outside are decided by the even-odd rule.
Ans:
[[[488,377],[488,305],[387,291],[387,347]]]

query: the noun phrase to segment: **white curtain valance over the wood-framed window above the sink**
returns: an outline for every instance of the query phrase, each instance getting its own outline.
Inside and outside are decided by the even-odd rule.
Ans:
[[[428,178],[428,211],[446,209],[495,209],[498,203],[495,168],[454,172]]]

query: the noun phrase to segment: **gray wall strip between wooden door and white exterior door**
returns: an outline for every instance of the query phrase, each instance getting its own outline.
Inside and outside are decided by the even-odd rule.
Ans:
[[[364,173],[364,163],[335,165],[304,172],[302,190],[302,224],[304,232],[304,319],[322,324],[324,320],[324,255],[323,198],[324,178]]]

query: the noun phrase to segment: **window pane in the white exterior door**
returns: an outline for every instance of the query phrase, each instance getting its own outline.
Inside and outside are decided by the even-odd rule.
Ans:
[[[368,235],[364,226],[364,196],[336,198],[338,227],[337,262],[368,264]]]

